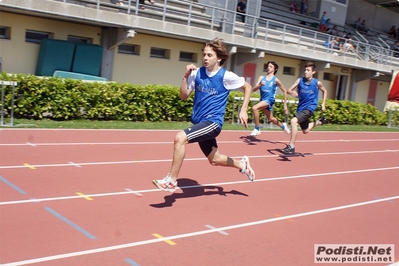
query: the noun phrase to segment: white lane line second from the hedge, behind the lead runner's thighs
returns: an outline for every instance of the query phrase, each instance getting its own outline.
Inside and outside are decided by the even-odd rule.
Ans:
[[[270,142],[286,142],[287,140],[273,140]],[[320,143],[320,142],[393,142],[399,141],[397,139],[310,139],[310,140],[297,140],[299,143]],[[263,140],[220,140],[218,143],[262,143]],[[129,141],[129,142],[49,142],[49,143],[0,143],[0,146],[87,146],[87,145],[160,145],[160,144],[173,144],[173,141]]]

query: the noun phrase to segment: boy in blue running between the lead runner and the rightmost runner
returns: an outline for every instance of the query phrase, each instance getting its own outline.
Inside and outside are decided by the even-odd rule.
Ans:
[[[260,89],[260,101],[252,107],[254,114],[255,129],[251,132],[250,136],[257,136],[260,134],[259,127],[259,110],[263,110],[269,122],[281,127],[287,134],[290,134],[290,129],[286,123],[281,123],[273,116],[273,105],[276,100],[277,87],[284,93],[284,113],[288,114],[287,108],[287,90],[281,81],[275,76],[278,70],[278,65],[274,61],[267,62],[267,75],[258,78],[257,85],[253,91]]]

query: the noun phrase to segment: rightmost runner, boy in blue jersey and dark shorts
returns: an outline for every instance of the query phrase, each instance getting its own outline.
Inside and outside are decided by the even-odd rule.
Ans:
[[[281,151],[285,154],[295,153],[295,140],[298,134],[298,124],[304,134],[309,133],[318,125],[327,123],[327,120],[320,116],[315,122],[309,122],[317,108],[319,101],[319,90],[323,93],[323,102],[321,110],[326,110],[327,90],[321,81],[318,81],[313,75],[316,73],[316,65],[313,62],[305,64],[305,72],[302,78],[299,78],[288,89],[288,94],[298,97],[298,107],[294,118],[291,119],[291,139],[290,144]],[[295,91],[297,89],[297,91]]]

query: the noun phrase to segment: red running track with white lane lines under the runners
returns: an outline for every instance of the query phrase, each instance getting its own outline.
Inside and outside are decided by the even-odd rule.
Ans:
[[[331,265],[317,244],[394,244],[366,265],[399,261],[399,133],[299,134],[282,156],[285,133],[249,132],[218,143],[255,182],[190,144],[171,194],[151,180],[176,131],[0,129],[0,264]]]

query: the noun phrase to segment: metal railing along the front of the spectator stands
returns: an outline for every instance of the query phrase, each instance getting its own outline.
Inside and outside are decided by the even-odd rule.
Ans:
[[[364,61],[374,61],[399,67],[399,61],[394,59],[393,51],[380,45],[372,45],[364,40],[353,40],[355,48],[352,52],[340,52],[326,49],[324,43],[331,42],[334,36],[321,33],[318,29],[309,29],[276,20],[269,20],[259,16],[246,14],[245,23],[237,20],[237,12],[224,7],[210,6],[187,0],[164,0],[155,5],[141,5],[135,0],[122,1],[123,6],[116,5],[116,0],[54,0],[64,3],[91,5],[97,9],[118,9],[121,13],[137,16],[157,18],[162,21],[176,22],[179,24],[217,30],[223,33],[235,34],[247,38],[262,39],[283,45],[292,45],[299,48],[318,50],[326,53],[338,53],[340,56],[349,56]],[[259,48],[259,47],[258,47]]]

